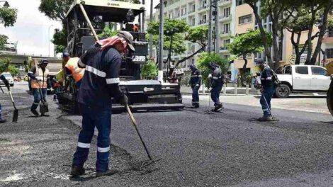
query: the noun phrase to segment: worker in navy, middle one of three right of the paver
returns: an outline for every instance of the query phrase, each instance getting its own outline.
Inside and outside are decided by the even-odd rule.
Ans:
[[[224,79],[221,69],[217,64],[210,62],[208,67],[212,71],[212,77],[210,77],[210,97],[212,98],[215,106],[212,111],[219,112],[223,109],[222,103],[220,102],[220,92],[224,84]]]

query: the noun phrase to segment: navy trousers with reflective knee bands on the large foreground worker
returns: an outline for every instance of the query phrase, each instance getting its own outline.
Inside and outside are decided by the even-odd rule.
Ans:
[[[96,127],[98,130],[96,170],[106,171],[110,155],[111,108],[91,107],[84,104],[80,104],[79,108],[82,113],[82,129],[72,165],[83,166],[86,162]]]

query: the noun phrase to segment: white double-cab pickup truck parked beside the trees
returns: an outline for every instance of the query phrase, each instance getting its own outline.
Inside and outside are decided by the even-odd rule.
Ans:
[[[276,97],[287,98],[292,92],[327,92],[331,79],[326,69],[312,65],[288,65],[278,74],[281,85],[276,88]]]

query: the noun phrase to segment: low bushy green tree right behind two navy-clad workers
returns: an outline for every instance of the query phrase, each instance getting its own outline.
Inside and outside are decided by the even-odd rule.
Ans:
[[[227,59],[221,57],[220,54],[208,52],[201,53],[200,57],[198,58],[198,69],[201,70],[201,74],[203,75],[203,82],[205,86],[208,87],[210,85],[208,75],[212,73],[212,71],[208,68],[208,64],[210,62],[215,62],[215,64],[218,64],[221,68],[222,74],[227,73],[228,67]]]

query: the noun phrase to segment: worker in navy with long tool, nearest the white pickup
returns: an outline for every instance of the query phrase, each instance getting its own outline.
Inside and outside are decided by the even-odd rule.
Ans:
[[[259,118],[259,121],[273,121],[276,120],[271,115],[271,98],[275,93],[275,84],[273,80],[273,70],[269,67],[266,62],[262,59],[257,59],[256,64],[259,65],[260,73],[260,81],[262,88],[260,89],[261,98],[260,104],[264,115]]]

